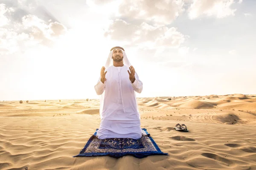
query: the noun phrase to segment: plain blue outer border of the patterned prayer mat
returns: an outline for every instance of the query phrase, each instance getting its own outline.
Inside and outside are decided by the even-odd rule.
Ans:
[[[84,145],[84,147],[80,150],[80,153],[76,156],[73,157],[93,157],[93,156],[110,156],[113,158],[120,158],[122,156],[134,156],[136,158],[145,158],[147,156],[151,156],[151,155],[168,155],[168,153],[163,153],[160,148],[157,146],[156,142],[154,142],[154,139],[151,137],[151,135],[148,133],[147,129],[142,128],[142,130],[144,130],[144,132],[147,134],[148,138],[151,140],[152,144],[154,144],[154,147],[157,149],[157,151],[150,151],[150,152],[125,152],[125,153],[84,153],[84,151],[86,150],[86,148],[89,146],[89,144],[93,141],[94,138],[96,138],[96,134],[97,134],[97,130],[96,132],[93,134],[93,136],[90,137],[90,139],[87,141],[87,143]]]

